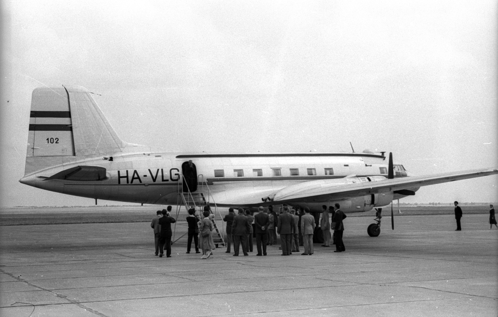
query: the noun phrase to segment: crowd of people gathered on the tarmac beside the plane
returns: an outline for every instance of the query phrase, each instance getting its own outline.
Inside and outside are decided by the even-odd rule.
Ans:
[[[324,244],[322,247],[330,247],[330,230],[334,230],[332,243],[336,245],[334,252],[346,251],[342,241],[346,215],[341,211],[340,205],[335,204],[335,208],[326,205],[322,206],[323,212],[320,220],[320,228],[323,232]],[[297,210],[296,210],[297,209]],[[280,247],[282,255],[299,253],[300,248],[304,251],[301,255],[313,254],[313,234],[315,232],[315,217],[311,215],[308,207],[292,209],[283,204],[278,212],[273,210],[273,206],[267,209],[260,206],[257,213],[251,214],[249,209],[229,208],[229,212],[223,218],[227,223],[225,243],[226,253],[231,253],[232,244],[234,246],[234,256],[239,256],[240,250],[245,256],[253,252],[252,237],[256,238],[256,256],[266,256],[266,246],[276,244],[277,234],[280,236]],[[155,255],[164,256],[164,246],[166,246],[166,257],[171,257],[171,223],[176,220],[171,217],[171,206],[167,209],[158,210],[157,216],[152,219],[150,226],[154,229]],[[192,242],[194,242],[195,253],[201,253],[201,259],[207,259],[213,254],[215,243],[212,232],[214,230],[213,218],[209,206],[204,207],[202,215],[196,214],[194,208],[188,210],[186,217],[188,224],[187,232],[187,253],[190,253]],[[254,224],[254,225],[253,225]]]

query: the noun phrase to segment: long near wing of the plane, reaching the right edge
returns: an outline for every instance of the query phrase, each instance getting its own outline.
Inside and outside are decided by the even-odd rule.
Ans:
[[[338,184],[337,182],[334,183],[329,179],[321,179],[282,188],[275,192],[275,196],[272,200],[279,202],[337,200],[434,185],[460,179],[493,175],[497,173],[497,168],[473,169],[424,176],[408,176],[371,182],[358,182],[353,184]]]

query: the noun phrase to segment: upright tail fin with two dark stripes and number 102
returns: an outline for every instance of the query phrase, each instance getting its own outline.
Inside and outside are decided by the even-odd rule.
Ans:
[[[33,90],[25,174],[75,157],[112,156],[124,146],[86,88]]]

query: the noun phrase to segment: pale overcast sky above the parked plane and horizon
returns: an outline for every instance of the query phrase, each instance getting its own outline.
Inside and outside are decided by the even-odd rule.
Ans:
[[[496,1],[2,1],[1,206],[31,92],[80,85],[121,139],[171,152],[392,152],[416,174],[497,163]],[[405,202],[495,202],[498,177]],[[102,201],[100,203],[112,203]]]

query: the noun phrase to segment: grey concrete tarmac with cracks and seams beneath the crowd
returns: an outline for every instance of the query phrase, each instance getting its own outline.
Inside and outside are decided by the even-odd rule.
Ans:
[[[451,215],[395,217],[394,231],[384,217],[376,238],[372,218],[345,220],[343,253],[207,260],[182,243],[154,256],[149,223],[2,226],[0,316],[497,316],[487,214],[463,231]]]

